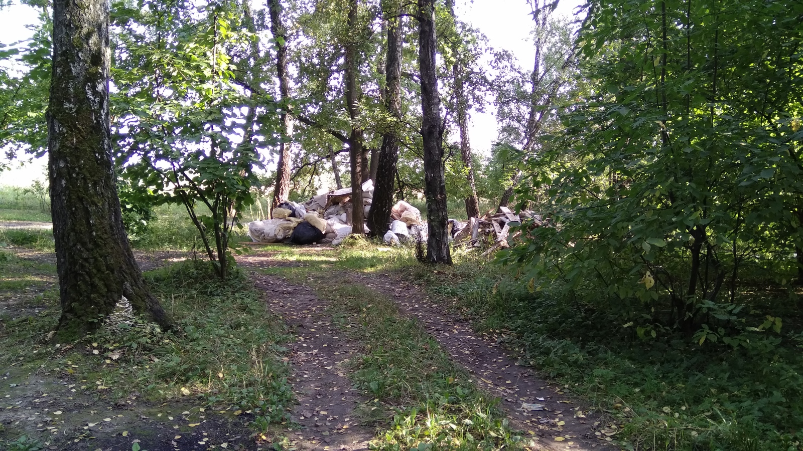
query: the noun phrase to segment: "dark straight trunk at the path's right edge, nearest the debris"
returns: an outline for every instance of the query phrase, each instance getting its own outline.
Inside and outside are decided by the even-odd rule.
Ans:
[[[446,220],[446,177],[443,170],[443,145],[438,77],[435,65],[435,3],[418,0],[418,66],[421,71],[421,134],[424,141],[424,196],[429,225],[426,260],[451,264],[449,230]]]

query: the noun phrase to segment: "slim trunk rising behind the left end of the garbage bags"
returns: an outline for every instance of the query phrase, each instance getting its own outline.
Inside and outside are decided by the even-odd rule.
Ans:
[[[290,136],[293,129],[293,119],[287,114],[290,108],[290,83],[287,75],[287,30],[281,19],[282,5],[279,0],[267,0],[267,7],[271,14],[271,35],[276,42],[276,74],[279,75],[279,95],[283,104],[280,116],[281,142],[279,142],[279,164],[276,165],[276,185],[273,189],[273,207],[287,201],[290,195]]]

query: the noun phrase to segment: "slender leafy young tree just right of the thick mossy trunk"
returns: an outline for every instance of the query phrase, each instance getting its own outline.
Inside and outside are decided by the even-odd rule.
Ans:
[[[182,4],[146,5],[119,4],[114,14],[122,177],[151,202],[184,205],[218,278],[226,278],[232,231],[254,201],[255,136],[275,143],[277,106],[263,104],[258,113],[236,86],[235,59],[246,55],[240,62],[247,64],[254,39],[236,3],[210,4],[202,14]],[[165,37],[165,29],[174,34]]]

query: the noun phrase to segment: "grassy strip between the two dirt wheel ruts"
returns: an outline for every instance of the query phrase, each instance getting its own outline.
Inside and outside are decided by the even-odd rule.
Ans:
[[[399,315],[392,300],[351,283],[317,293],[336,301],[334,321],[363,343],[350,361],[350,377],[369,398],[357,411],[383,426],[375,449],[522,447],[496,401],[477,391],[438,341]]]

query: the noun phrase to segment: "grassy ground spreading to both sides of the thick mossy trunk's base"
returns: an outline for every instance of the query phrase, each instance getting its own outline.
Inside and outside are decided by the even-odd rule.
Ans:
[[[259,425],[286,423],[294,400],[283,347],[289,335],[251,281],[234,271],[221,282],[198,260],[145,278],[176,332],[129,316],[79,343],[54,346],[47,333],[60,309],[52,289],[39,296],[47,306],[39,315],[0,322],[0,368],[66,377],[75,390],[113,401],[209,405],[250,413]]]

